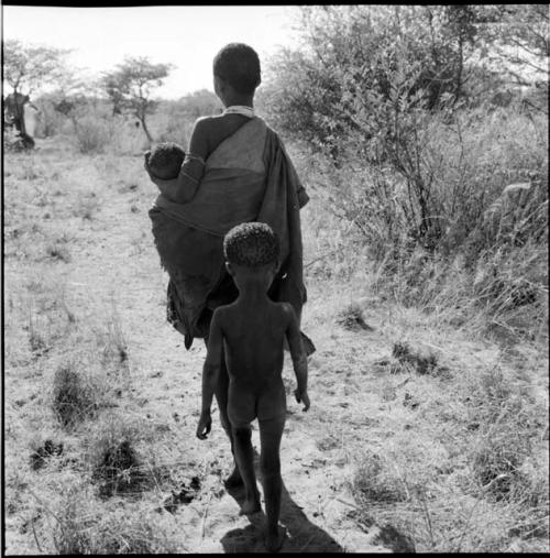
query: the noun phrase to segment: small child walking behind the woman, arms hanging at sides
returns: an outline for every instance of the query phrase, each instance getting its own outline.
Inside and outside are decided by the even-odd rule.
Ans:
[[[210,406],[224,361],[229,374],[228,417],[237,463],[246,491],[241,514],[261,511],[251,444],[251,423],[257,418],[267,516],[265,545],[274,552],[284,540],[278,518],[282,493],[279,446],[286,417],[282,378],[285,339],[298,383],[294,393],[298,403],[304,402],[304,411],[309,408],[307,358],[293,306],[274,303],[267,296],[279,264],[276,234],[265,223],[240,225],[226,236],[223,252],[228,272],[239,288],[239,297],[234,303],[219,306],[210,322],[197,436],[205,439],[210,431]]]

